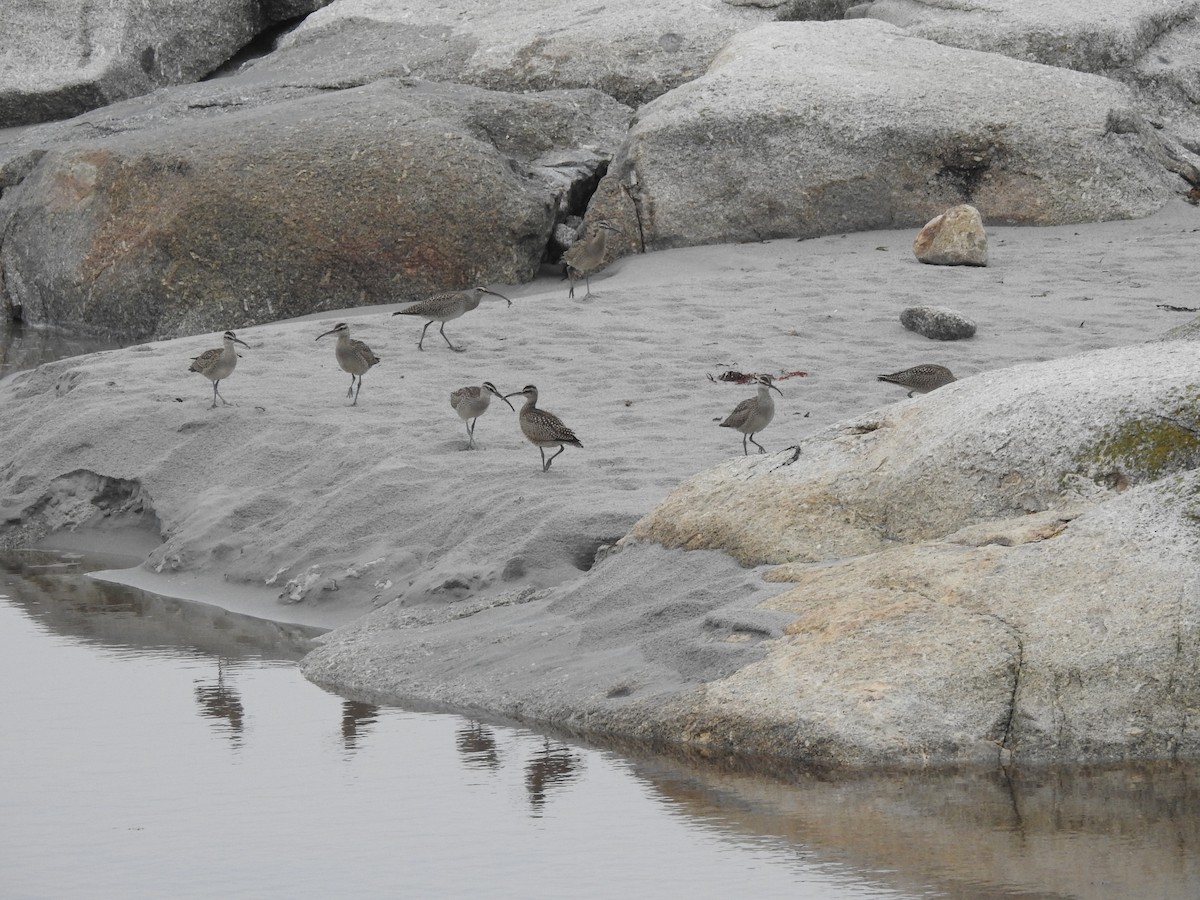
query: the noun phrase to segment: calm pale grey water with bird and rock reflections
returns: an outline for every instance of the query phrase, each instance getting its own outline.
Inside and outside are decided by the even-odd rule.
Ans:
[[[1195,768],[619,755],[332,696],[295,667],[310,629],[84,568],[0,557],[4,898],[1200,895]]]

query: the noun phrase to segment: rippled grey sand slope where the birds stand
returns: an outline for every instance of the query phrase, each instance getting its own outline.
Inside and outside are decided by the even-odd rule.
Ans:
[[[923,265],[910,229],[696,247],[620,259],[576,300],[547,271],[493,286],[511,307],[488,299],[450,322],[462,353],[436,324],[418,352],[424,323],[392,317],[400,305],[246,329],[250,349],[239,348],[221,385],[233,406],[211,410],[210,383],[187,366],[220,343],[215,335],[65,360],[36,378],[86,371],[72,396],[91,396],[72,438],[56,443],[126,457],[131,476],[149,473],[156,502],[178,497],[191,510],[132,580],[330,625],[397,599],[452,601],[578,576],[673,486],[740,455],[742,436],[718,425],[754,389],[709,376],[780,379],[775,420],[758,436],[780,451],[842,419],[919,402],[880,373],[937,362],[965,379],[1156,338],[1194,318],[1163,307],[1196,302],[1198,229],[1183,202],[1140,221],[989,226],[986,268]],[[914,305],[956,310],[978,331],[959,342],[906,331],[899,314]],[[340,320],[383,360],[356,407],[332,338],[314,341]],[[504,392],[535,384],[583,449],[542,473],[496,401],[479,420],[479,449],[467,451],[449,395],[484,380]],[[22,392],[19,377],[10,385]],[[143,433],[122,438],[114,420]],[[128,458],[136,446],[142,458]]]

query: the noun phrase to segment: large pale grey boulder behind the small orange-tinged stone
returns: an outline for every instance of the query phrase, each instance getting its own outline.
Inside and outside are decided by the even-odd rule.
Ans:
[[[649,248],[920,226],[965,202],[994,223],[1140,216],[1178,182],[1132,104],[870,19],[772,24],[640,109],[614,170]]]

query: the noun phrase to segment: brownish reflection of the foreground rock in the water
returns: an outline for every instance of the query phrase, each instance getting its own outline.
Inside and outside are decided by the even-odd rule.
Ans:
[[[906,896],[1198,896],[1194,762],[838,773],[635,752],[635,774],[696,821]]]

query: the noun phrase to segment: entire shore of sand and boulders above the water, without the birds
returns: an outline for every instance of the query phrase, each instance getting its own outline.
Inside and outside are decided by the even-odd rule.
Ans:
[[[130,346],[0,382],[0,545],[151,534],[144,582],[338,625],[302,667],[360,696],[828,766],[1195,758],[1200,2],[1102,6],[80,2],[64,41],[18,0],[0,304]],[[984,252],[918,262],[961,204]],[[462,353],[392,318],[479,283],[514,302]],[[354,406],[340,322],[382,360]],[[877,380],[918,364],[956,380]],[[769,452],[726,371],[775,378]],[[542,472],[497,403],[467,450],[485,380],[582,446]]]

